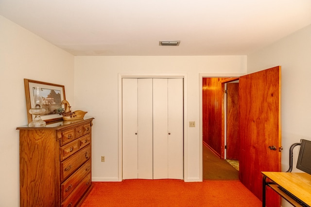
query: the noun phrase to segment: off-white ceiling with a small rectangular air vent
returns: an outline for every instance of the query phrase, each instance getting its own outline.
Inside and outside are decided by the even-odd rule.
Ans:
[[[0,15],[73,55],[247,55],[311,24],[311,0],[0,0]]]

